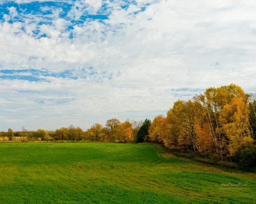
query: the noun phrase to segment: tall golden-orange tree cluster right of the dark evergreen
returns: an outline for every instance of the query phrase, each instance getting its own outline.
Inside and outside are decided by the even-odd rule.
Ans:
[[[248,147],[255,151],[255,137],[256,97],[231,84],[176,101],[167,117],[153,120],[144,141],[223,160]]]

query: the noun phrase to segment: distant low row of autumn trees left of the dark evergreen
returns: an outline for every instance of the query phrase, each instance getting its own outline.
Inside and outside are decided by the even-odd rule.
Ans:
[[[55,131],[45,131],[38,129],[37,131],[27,131],[22,127],[21,132],[13,132],[12,129],[8,129],[8,132],[0,132],[2,140],[70,140],[70,141],[106,141],[106,142],[130,142],[136,141],[136,136],[142,122],[125,121],[121,123],[118,119],[109,119],[105,127],[103,125],[95,123],[87,131],[83,131],[80,127],[74,127],[70,125],[68,128],[60,128]]]

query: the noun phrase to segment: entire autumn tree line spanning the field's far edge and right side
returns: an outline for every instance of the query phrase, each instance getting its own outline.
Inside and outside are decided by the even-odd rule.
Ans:
[[[154,142],[175,151],[256,164],[256,95],[234,84],[210,87],[187,101],[174,102],[167,116],[151,122],[109,119],[83,131],[70,125],[55,131],[0,132],[3,138],[21,141],[71,140],[104,142]]]

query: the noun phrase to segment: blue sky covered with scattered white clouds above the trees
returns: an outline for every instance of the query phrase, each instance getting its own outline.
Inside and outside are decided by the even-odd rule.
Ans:
[[[0,0],[0,131],[153,120],[256,92],[255,0]]]

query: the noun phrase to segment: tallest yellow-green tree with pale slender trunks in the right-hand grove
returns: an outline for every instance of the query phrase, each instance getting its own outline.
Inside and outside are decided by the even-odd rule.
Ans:
[[[197,115],[201,127],[204,127],[212,140],[216,154],[220,154],[223,159],[223,151],[226,149],[226,135],[222,130],[220,114],[223,107],[230,104],[233,98],[239,98],[246,103],[248,95],[241,87],[234,84],[211,87],[203,94],[193,97],[195,102],[194,112]],[[203,124],[203,125],[202,125]]]

